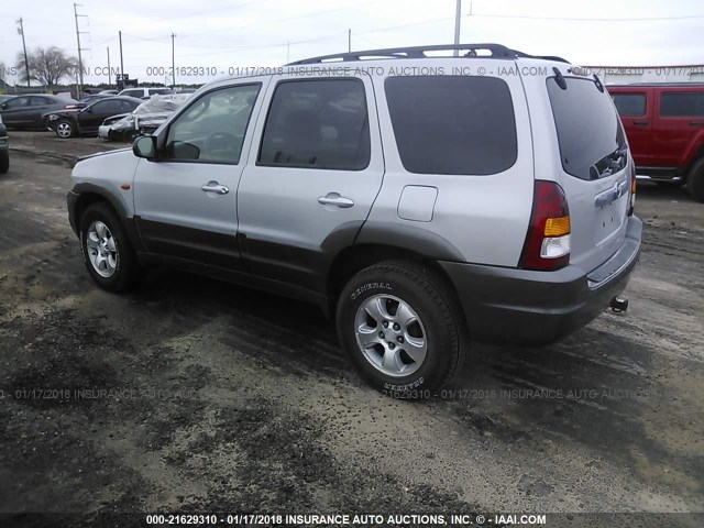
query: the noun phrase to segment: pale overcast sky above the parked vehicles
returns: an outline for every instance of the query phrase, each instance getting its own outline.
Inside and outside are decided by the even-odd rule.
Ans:
[[[457,7],[455,0],[79,1],[84,80],[96,84],[108,80],[108,48],[119,72],[119,31],[130,77],[170,84],[174,33],[176,67],[186,68],[176,82],[194,84],[346,52],[349,31],[353,51],[449,44]],[[77,55],[73,1],[2,0],[0,63],[16,63],[20,18],[28,50],[54,45]],[[460,42],[495,42],[585,66],[702,65],[704,2],[462,0]]]

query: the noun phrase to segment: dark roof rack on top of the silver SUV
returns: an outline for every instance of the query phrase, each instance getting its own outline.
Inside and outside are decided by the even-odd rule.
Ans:
[[[304,64],[320,64],[323,62],[332,61],[364,61],[365,58],[426,58],[426,52],[443,52],[443,51],[462,51],[466,52],[463,57],[479,57],[476,53],[479,50],[490,51],[492,58],[543,58],[547,61],[558,61],[560,63],[566,63],[564,58],[553,56],[536,56],[528,55],[527,53],[510,50],[509,47],[501,44],[439,44],[432,46],[413,46],[413,47],[388,47],[384,50],[367,50],[364,52],[350,52],[350,53],[336,53],[332,55],[321,55],[319,57],[304,58],[302,61],[296,61],[288,63],[286,66],[297,66]],[[485,57],[485,55],[482,55]]]

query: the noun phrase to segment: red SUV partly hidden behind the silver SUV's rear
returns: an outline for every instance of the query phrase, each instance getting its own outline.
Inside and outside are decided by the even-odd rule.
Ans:
[[[704,202],[704,85],[607,86],[639,178],[682,185]]]

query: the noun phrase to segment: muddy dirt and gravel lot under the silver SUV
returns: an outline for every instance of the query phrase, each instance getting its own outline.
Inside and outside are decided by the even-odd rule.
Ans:
[[[307,305],[165,270],[97,289],[65,160],[101,144],[11,139],[0,512],[704,512],[704,205],[684,190],[639,190],[627,314],[544,349],[474,345],[452,387],[407,403],[364,386]]]

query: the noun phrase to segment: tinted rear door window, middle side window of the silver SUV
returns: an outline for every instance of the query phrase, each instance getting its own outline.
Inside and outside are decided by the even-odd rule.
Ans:
[[[364,84],[292,80],[276,87],[258,165],[362,170],[370,163]]]

